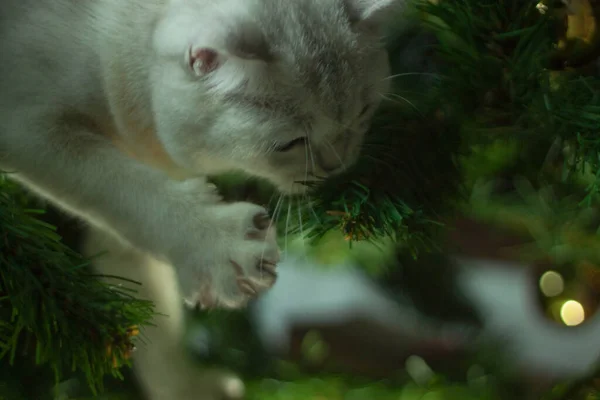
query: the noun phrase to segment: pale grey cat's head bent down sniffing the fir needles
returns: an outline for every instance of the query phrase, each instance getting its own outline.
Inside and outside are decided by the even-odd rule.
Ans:
[[[404,0],[170,0],[151,90],[167,152],[283,191],[357,158],[388,90],[384,17]]]

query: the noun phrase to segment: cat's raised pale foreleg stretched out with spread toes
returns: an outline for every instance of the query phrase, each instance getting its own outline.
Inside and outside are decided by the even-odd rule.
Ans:
[[[81,118],[0,118],[0,167],[173,265],[189,301],[239,307],[275,282],[279,250],[263,207],[221,203],[202,177],[173,181],[120,153]]]

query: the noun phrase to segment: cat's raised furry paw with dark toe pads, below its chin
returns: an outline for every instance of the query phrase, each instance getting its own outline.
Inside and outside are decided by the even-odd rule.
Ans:
[[[239,308],[277,279],[279,248],[267,211],[251,203],[209,206],[212,232],[206,237],[196,279],[184,274],[186,303],[202,308]]]

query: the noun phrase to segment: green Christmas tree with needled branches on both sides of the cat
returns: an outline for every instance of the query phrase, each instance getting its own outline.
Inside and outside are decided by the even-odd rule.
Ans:
[[[281,198],[264,182],[238,175],[214,182],[225,197],[267,204],[286,248],[289,240],[316,258],[332,249],[341,258],[362,254],[365,271],[396,290],[395,273],[402,269],[403,293],[428,314],[461,303],[442,265],[444,255],[456,251],[449,237],[465,221],[513,238],[502,257],[551,265],[546,269],[564,278],[561,293],[570,301],[597,296],[598,16],[593,0],[416,1],[387,35],[392,90],[382,94],[356,165],[302,198]],[[10,180],[0,182],[0,191],[0,359],[10,365],[0,375],[0,399],[41,399],[73,377],[93,398],[107,376],[128,374],[138,327],[151,319],[152,305],[93,279],[89,260],[61,241]],[[365,243],[391,250],[364,257]],[[435,290],[426,294],[424,280]],[[549,319],[560,319],[567,300],[561,296],[542,296]],[[222,349],[203,361],[240,371],[250,399],[499,399],[515,393],[498,383],[500,372],[476,384],[435,373],[417,382],[406,373],[373,380],[307,372],[265,357],[247,335],[237,337],[252,329],[245,313],[200,317]],[[322,349],[313,342],[307,353]],[[232,349],[244,357],[233,357]],[[27,383],[32,375],[35,390]],[[114,382],[104,395],[133,398]],[[597,392],[593,376],[585,376],[544,396],[596,398]]]

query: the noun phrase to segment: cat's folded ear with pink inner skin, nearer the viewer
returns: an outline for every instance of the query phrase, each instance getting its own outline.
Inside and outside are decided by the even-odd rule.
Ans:
[[[214,44],[190,48],[187,62],[196,75],[211,73],[227,61],[268,63],[273,60],[265,36],[251,24],[236,24],[234,29],[223,32]]]

